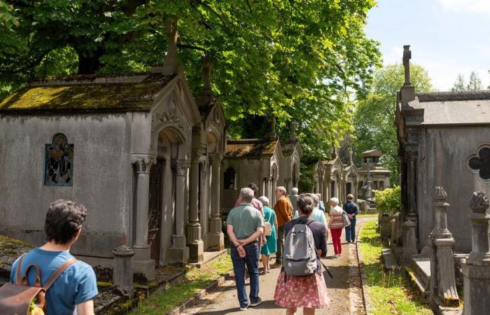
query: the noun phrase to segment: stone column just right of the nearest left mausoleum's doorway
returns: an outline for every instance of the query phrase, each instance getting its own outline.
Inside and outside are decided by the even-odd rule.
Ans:
[[[189,260],[189,248],[184,235],[184,211],[186,201],[186,176],[189,168],[187,160],[173,160],[172,169],[176,177],[175,197],[175,235],[172,235],[172,247],[169,248],[169,263],[186,265]]]

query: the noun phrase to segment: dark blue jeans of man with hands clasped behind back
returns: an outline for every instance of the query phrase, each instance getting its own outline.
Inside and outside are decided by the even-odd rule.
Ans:
[[[231,244],[230,248],[238,301],[240,302],[240,307],[247,307],[250,302],[248,302],[246,297],[245,265],[248,268],[248,276],[250,276],[250,300],[252,303],[258,301],[258,244],[245,245],[246,255],[244,258],[240,257],[235,245]]]

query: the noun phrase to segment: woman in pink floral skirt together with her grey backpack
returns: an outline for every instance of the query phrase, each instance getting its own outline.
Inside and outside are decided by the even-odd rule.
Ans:
[[[300,195],[297,197],[300,217],[284,226],[283,267],[277,279],[274,300],[277,306],[287,307],[286,315],[295,314],[298,307],[303,308],[303,314],[315,314],[315,309],[325,307],[329,302],[320,261],[320,257],[327,253],[325,225],[311,220],[313,207],[311,196]],[[295,261],[288,261],[288,257],[297,258],[295,256],[300,253],[305,256],[307,265],[295,266]],[[312,266],[310,262],[313,262]],[[297,275],[302,272],[306,275]]]

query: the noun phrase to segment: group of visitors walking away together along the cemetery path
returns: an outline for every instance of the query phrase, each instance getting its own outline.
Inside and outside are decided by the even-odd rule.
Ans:
[[[270,255],[276,253],[272,267],[281,267],[274,292],[276,305],[286,307],[286,314],[295,314],[298,307],[303,308],[303,314],[314,314],[315,309],[328,304],[320,260],[327,255],[328,230],[334,248],[332,258],[342,254],[340,237],[343,228],[346,231],[346,242],[355,241],[356,215],[359,210],[353,202],[353,195],[347,195],[343,207],[339,207],[338,198],[330,199],[330,219],[327,222],[320,194],[298,195],[297,188],[293,188],[291,194],[286,195],[286,188],[279,186],[275,190],[276,204],[271,208],[267,197],[255,197],[257,192],[255,183],[242,188],[226,222],[240,309],[256,307],[262,302],[258,295],[259,255],[262,255],[262,274],[267,274],[271,267]],[[348,226],[346,218],[350,223]],[[297,233],[295,225],[307,226],[316,251],[316,270],[305,276],[288,275],[283,266],[284,238],[290,237],[291,232]],[[288,246],[286,250],[290,251],[294,245]],[[245,287],[246,269],[250,278],[248,297]]]

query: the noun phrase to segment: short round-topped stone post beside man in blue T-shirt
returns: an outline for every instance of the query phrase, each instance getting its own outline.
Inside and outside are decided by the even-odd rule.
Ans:
[[[131,297],[133,288],[133,261],[134,251],[127,245],[114,248],[112,251],[114,262],[112,267],[113,289],[118,293]]]

